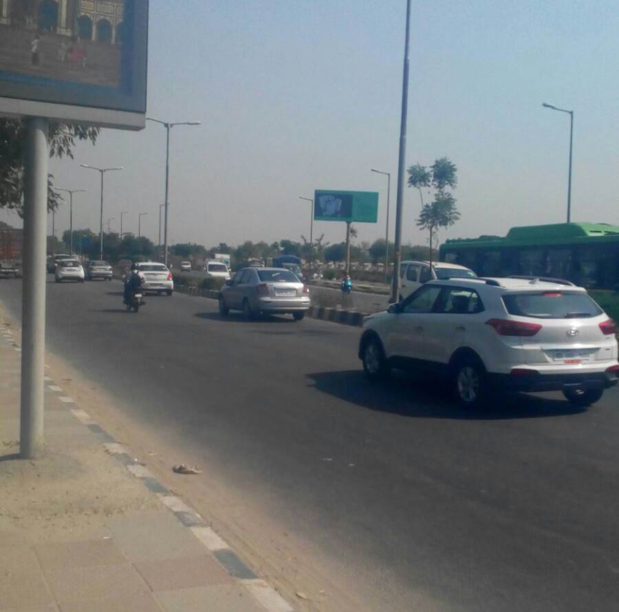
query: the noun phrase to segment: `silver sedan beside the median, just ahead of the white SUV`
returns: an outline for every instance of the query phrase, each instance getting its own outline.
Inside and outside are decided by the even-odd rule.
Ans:
[[[219,293],[219,313],[242,310],[246,319],[260,313],[290,313],[301,321],[310,308],[310,289],[283,268],[243,268]]]

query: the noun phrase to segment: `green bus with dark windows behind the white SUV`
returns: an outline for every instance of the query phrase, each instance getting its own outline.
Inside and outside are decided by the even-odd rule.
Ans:
[[[595,289],[619,289],[619,226],[556,223],[512,227],[507,236],[446,240],[440,260],[479,276],[564,278]]]

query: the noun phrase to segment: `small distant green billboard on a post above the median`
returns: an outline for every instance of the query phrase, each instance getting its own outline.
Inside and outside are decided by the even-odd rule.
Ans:
[[[376,223],[378,192],[316,190],[314,220]]]

